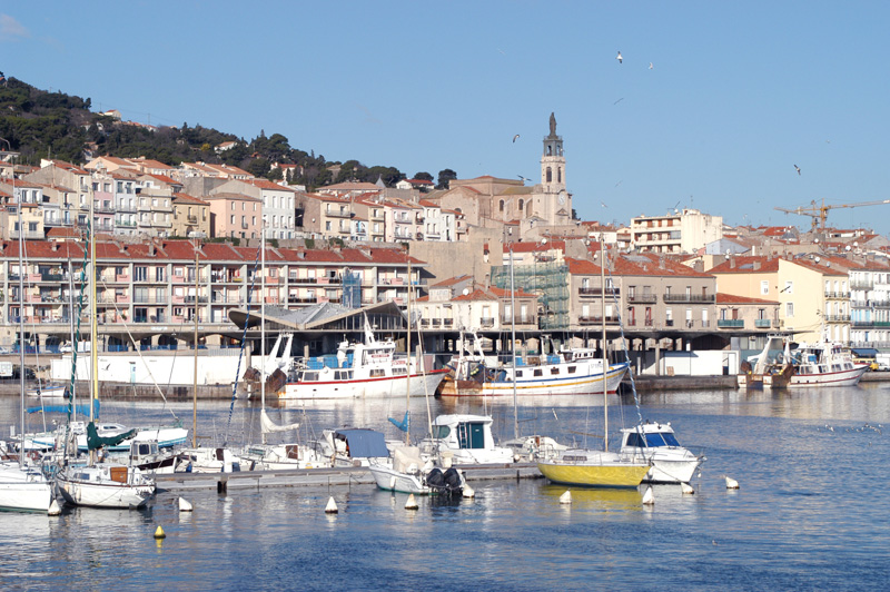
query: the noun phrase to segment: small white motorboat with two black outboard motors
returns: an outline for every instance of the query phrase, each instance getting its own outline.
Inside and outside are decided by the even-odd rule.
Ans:
[[[395,448],[388,458],[372,458],[368,470],[384,491],[459,496],[466,486],[463,473],[453,466],[442,471],[432,461],[424,461],[416,446]]]

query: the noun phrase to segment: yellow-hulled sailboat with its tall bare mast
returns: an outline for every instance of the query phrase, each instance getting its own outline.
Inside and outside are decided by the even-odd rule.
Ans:
[[[600,279],[605,286],[605,248],[600,239]],[[605,298],[603,298],[603,367],[607,367]],[[589,487],[636,487],[649,473],[650,463],[640,456],[609,450],[609,389],[603,383],[603,450],[566,448],[540,457],[537,468],[553,483]]]

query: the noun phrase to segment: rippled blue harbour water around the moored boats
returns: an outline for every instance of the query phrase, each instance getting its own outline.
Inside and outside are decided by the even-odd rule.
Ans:
[[[534,402],[541,403],[541,402]],[[599,397],[520,408],[525,434],[581,443],[602,434]],[[593,404],[593,405],[592,405]],[[67,510],[60,517],[0,514],[0,584],[14,589],[387,589],[387,590],[852,590],[883,589],[890,576],[884,491],[890,453],[890,385],[788,394],[689,392],[643,396],[643,417],[671,421],[682,443],[705,446],[695,495],[656,486],[573,490],[543,480],[473,483],[475,500],[452,505],[370,485],[187,492],[194,514],[161,493],[146,511]],[[412,399],[425,423],[426,405]],[[610,399],[614,428],[635,411]],[[384,430],[404,401],[274,410],[301,417],[304,434],[344,424]],[[432,413],[482,410],[431,402]],[[172,406],[190,424],[191,405]],[[18,417],[0,399],[0,425]],[[158,403],[108,402],[103,418],[169,418]],[[508,402],[488,410],[512,436]],[[226,402],[201,403],[199,433],[221,438]],[[33,417],[31,418],[33,420]],[[882,432],[864,424],[883,426]],[[258,406],[236,403],[229,441],[258,435]],[[388,426],[388,436],[396,436]],[[825,426],[833,427],[833,431]],[[32,425],[32,427],[36,427]],[[594,445],[594,442],[589,442]],[[728,491],[721,478],[736,478]],[[324,513],[333,495],[339,514]],[[167,539],[157,545],[155,529]]]

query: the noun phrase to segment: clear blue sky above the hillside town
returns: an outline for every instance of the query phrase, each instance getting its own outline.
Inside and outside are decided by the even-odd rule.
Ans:
[[[554,112],[584,220],[809,229],[774,208],[890,197],[889,24],[878,1],[8,2],[0,71],[408,177],[540,182]],[[890,205],[828,223],[888,235]]]

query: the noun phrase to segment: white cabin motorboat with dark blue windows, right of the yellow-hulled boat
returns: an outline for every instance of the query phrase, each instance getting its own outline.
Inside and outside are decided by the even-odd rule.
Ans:
[[[647,483],[689,483],[704,455],[680,445],[670,423],[645,422],[621,430],[621,453],[652,464],[643,477]]]

